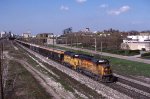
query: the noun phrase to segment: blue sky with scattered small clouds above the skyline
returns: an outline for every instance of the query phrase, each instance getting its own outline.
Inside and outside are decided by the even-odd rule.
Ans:
[[[150,30],[150,0],[0,0],[0,31]]]

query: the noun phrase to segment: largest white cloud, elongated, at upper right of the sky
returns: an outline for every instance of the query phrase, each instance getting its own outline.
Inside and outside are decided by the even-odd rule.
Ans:
[[[119,8],[119,9],[108,11],[108,14],[111,14],[111,15],[119,15],[119,14],[121,14],[121,13],[127,12],[128,10],[130,10],[130,7],[126,5],[126,6],[122,6],[122,7]]]

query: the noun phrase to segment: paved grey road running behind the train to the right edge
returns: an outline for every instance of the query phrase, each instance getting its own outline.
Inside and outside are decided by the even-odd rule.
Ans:
[[[123,55],[117,55],[117,54],[111,54],[111,53],[105,53],[105,52],[98,52],[98,51],[93,51],[93,50],[88,50],[88,49],[83,49],[83,48],[70,47],[70,46],[66,46],[66,45],[62,45],[62,44],[56,44],[56,46],[65,47],[65,48],[74,49],[74,50],[85,51],[88,53],[99,54],[99,55],[103,55],[103,56],[125,59],[125,60],[129,60],[129,61],[135,61],[135,62],[150,64],[150,60],[141,59],[141,58],[137,58],[134,56],[123,56]]]

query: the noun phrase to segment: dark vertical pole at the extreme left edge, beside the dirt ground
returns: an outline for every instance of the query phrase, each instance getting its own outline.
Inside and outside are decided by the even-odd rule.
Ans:
[[[1,52],[0,52],[0,83],[1,83],[1,99],[4,99],[4,90],[3,90],[3,72],[2,72],[2,66],[3,66],[3,43],[1,42]]]

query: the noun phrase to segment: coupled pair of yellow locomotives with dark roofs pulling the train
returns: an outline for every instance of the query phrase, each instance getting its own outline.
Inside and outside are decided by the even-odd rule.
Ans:
[[[107,59],[95,59],[89,55],[66,51],[63,63],[96,80],[112,82],[112,70]]]

